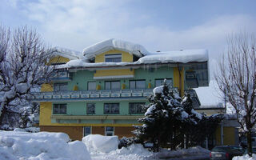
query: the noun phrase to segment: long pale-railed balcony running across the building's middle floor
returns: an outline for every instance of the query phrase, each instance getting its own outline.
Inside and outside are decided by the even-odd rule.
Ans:
[[[173,90],[178,91],[177,88]],[[194,108],[198,108],[201,103],[195,90],[185,90],[189,93]],[[54,102],[54,101],[79,101],[79,100],[98,100],[98,99],[126,99],[126,98],[146,98],[153,94],[153,89],[143,90],[79,90],[79,91],[58,91],[58,92],[37,92],[31,96],[35,102]]]

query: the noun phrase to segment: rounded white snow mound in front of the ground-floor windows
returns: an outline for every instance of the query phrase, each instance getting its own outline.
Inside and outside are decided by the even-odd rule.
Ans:
[[[90,134],[86,137],[82,138],[82,142],[84,142],[90,151],[90,153],[109,153],[112,150],[118,149],[118,136],[102,136],[99,134]]]

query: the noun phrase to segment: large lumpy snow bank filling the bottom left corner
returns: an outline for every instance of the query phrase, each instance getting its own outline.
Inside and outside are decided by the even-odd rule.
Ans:
[[[63,133],[0,131],[0,159],[90,160],[86,146]]]

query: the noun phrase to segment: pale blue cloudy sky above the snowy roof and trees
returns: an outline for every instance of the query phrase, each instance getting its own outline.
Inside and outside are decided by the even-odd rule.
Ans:
[[[51,46],[78,51],[120,38],[149,51],[208,49],[214,61],[226,35],[256,31],[254,0],[0,1],[4,26],[32,26]]]

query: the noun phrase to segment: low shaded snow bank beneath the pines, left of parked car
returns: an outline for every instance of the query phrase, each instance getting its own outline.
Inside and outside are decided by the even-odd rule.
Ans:
[[[191,147],[182,150],[166,150],[162,149],[158,154],[158,158],[210,158],[210,150],[206,150],[201,146]]]

